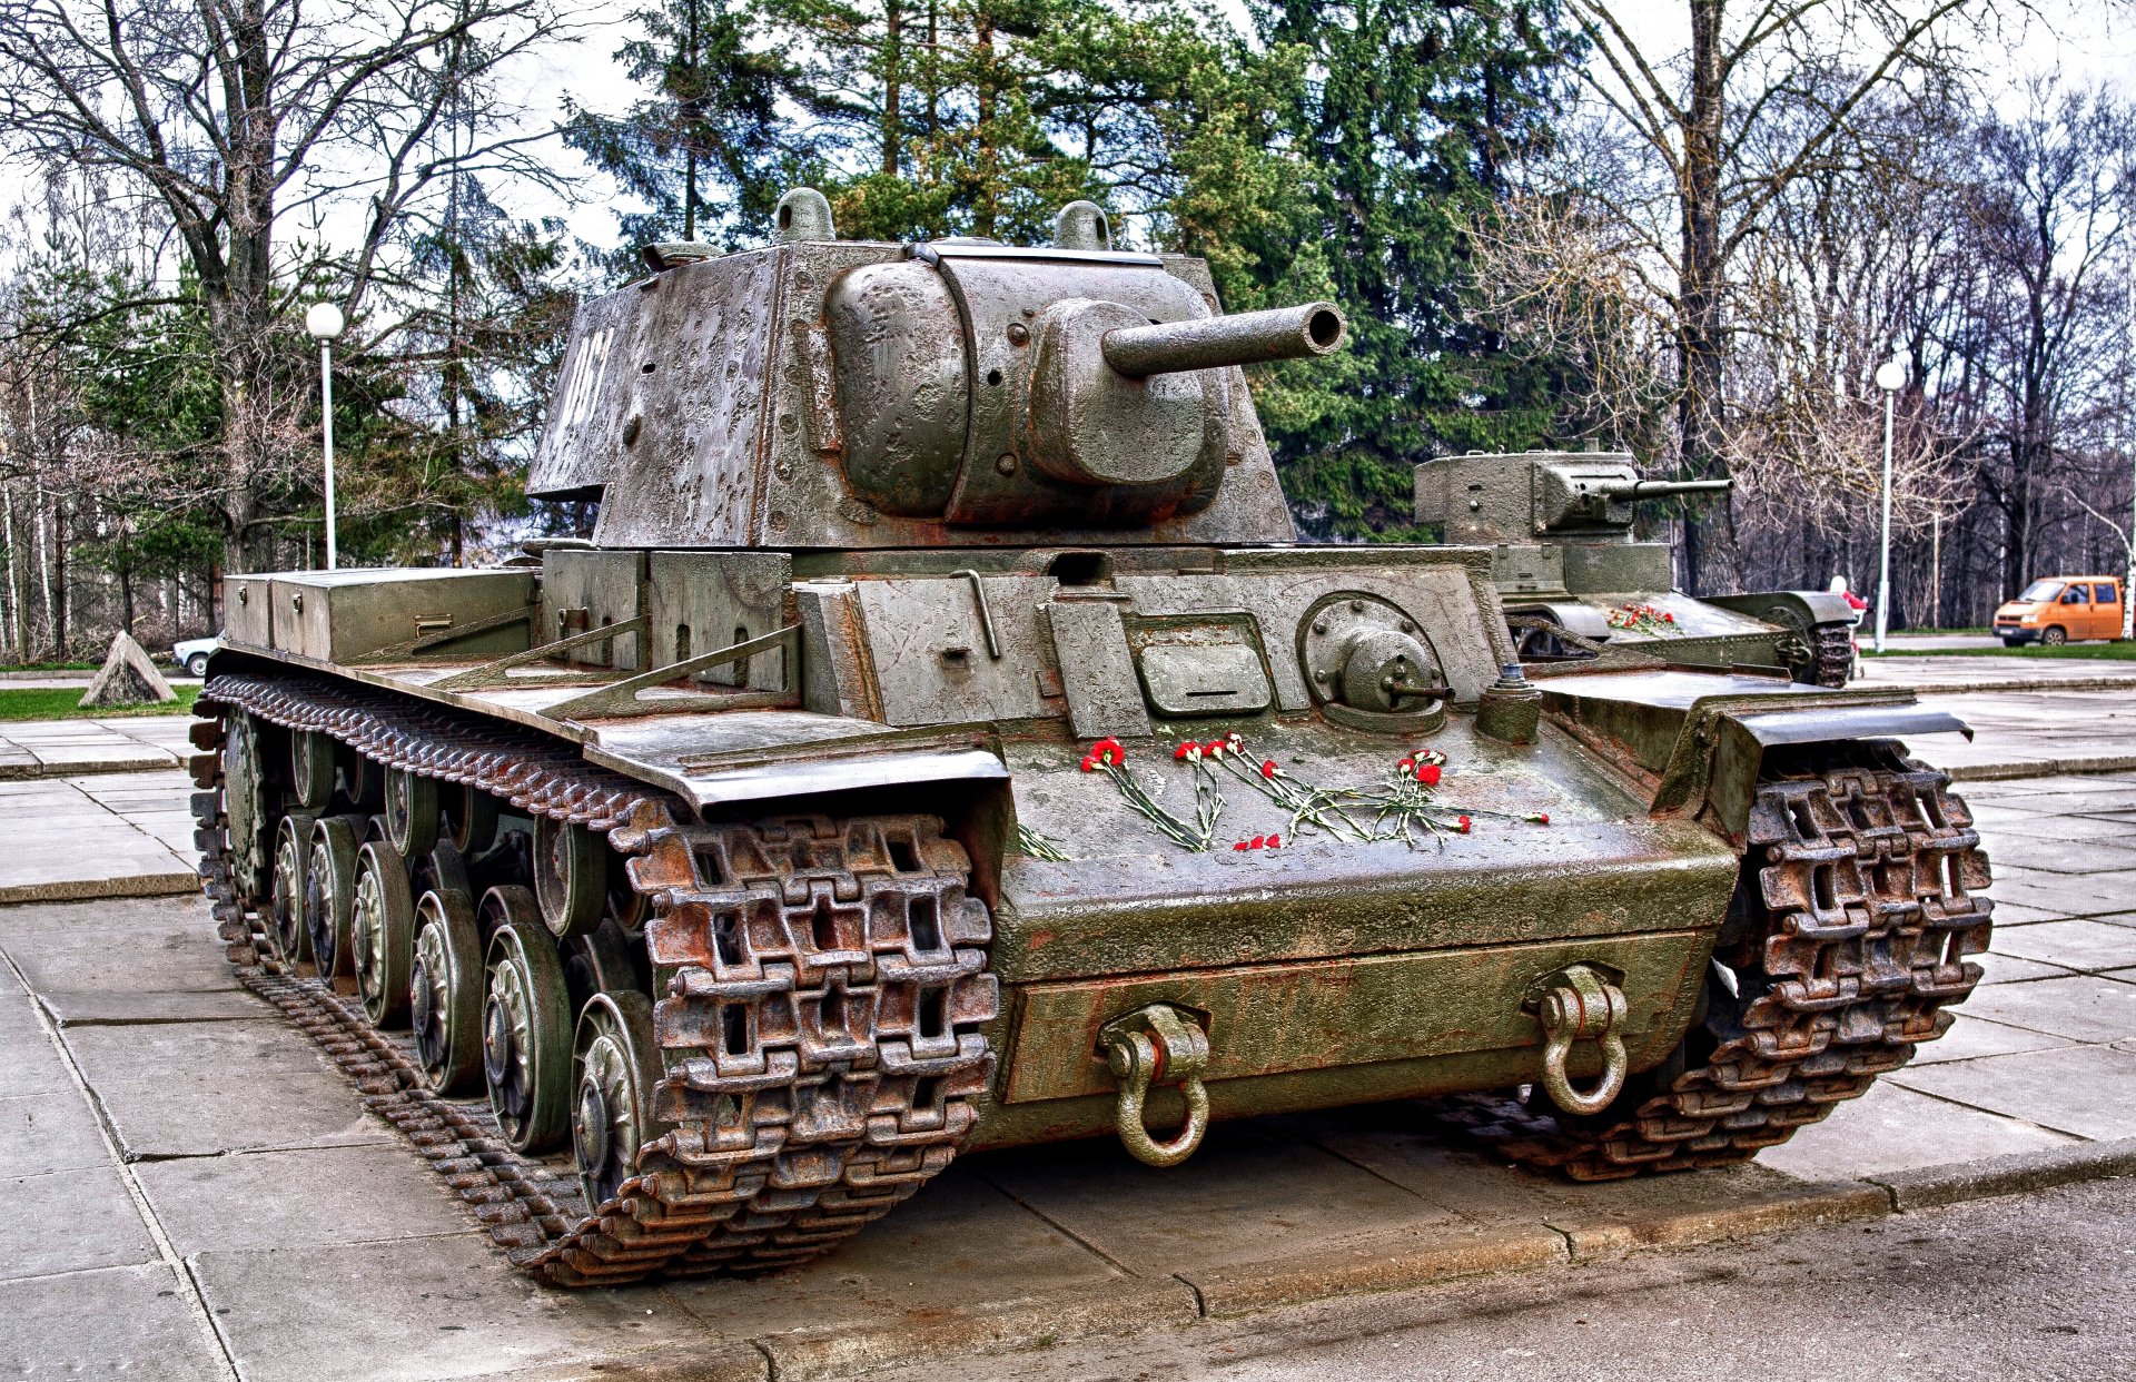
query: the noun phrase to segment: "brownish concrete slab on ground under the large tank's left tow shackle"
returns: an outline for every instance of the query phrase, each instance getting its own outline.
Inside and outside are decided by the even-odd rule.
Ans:
[[[987,1179],[1141,1273],[1275,1256],[1333,1224],[1384,1232],[1459,1222],[1382,1175],[1250,1124],[1213,1126],[1194,1162],[1194,1177],[1168,1175],[1117,1143],[1091,1141],[1004,1158],[987,1166]]]

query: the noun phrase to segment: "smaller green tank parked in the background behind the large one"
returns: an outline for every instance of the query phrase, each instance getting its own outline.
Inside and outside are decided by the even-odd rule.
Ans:
[[[1822,590],[1687,596],[1668,543],[1640,543],[1636,506],[1719,493],[1728,481],[1643,481],[1623,453],[1457,455],[1416,468],[1416,521],[1491,547],[1491,575],[1523,662],[1636,647],[1681,666],[1786,671],[1841,688],[1856,611]]]

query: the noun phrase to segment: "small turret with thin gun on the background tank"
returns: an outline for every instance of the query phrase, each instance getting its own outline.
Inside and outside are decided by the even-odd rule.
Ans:
[[[1630,455],[1450,455],[1416,468],[1416,521],[1457,545],[1632,543],[1634,504],[1730,481],[1643,481]]]

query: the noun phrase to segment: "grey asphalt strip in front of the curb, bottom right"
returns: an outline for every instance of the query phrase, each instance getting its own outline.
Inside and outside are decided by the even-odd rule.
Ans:
[[[2136,1376],[2136,1181],[1762,1243],[1203,1320],[1015,1359],[1021,1382],[2006,1382]],[[995,1382],[1000,1359],[929,1367]]]

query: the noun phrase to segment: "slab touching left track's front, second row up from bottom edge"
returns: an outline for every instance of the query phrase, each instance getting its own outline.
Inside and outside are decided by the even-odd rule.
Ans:
[[[171,1247],[186,1258],[470,1228],[444,1181],[389,1143],[143,1162],[135,1175]]]

